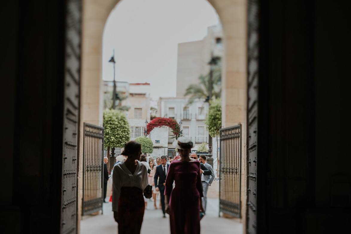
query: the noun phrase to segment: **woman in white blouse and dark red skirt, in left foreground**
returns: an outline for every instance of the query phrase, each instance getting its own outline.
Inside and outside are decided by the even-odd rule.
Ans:
[[[118,222],[118,233],[140,233],[143,223],[143,192],[148,181],[147,168],[138,161],[140,154],[140,143],[128,142],[122,152],[127,160],[115,164],[113,168],[112,210]]]

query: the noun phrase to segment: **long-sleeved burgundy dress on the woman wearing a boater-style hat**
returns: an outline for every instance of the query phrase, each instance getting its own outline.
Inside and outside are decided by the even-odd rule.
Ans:
[[[171,234],[200,234],[200,162],[174,160],[167,171],[165,195],[171,196]]]

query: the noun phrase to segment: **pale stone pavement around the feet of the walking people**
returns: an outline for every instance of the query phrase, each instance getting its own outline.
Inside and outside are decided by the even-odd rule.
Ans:
[[[157,201],[156,203],[159,203]],[[85,215],[80,222],[80,234],[117,233],[117,223],[113,219],[112,203],[104,203],[104,213]],[[148,202],[144,213],[142,234],[170,233],[169,218],[162,218],[161,209],[154,209],[153,202]],[[207,212],[201,220],[201,234],[242,234],[243,225],[239,219],[218,217],[218,199],[207,198]]]

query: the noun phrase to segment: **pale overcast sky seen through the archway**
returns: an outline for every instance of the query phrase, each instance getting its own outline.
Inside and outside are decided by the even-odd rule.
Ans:
[[[178,43],[202,40],[218,22],[206,0],[122,0],[105,25],[102,79],[113,80],[114,49],[116,81],[150,83],[156,107],[160,96],[176,96]]]

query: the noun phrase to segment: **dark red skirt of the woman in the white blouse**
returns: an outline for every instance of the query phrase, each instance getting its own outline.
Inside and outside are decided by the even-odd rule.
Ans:
[[[121,187],[118,201],[118,233],[139,234],[144,210],[143,191],[137,187]]]

